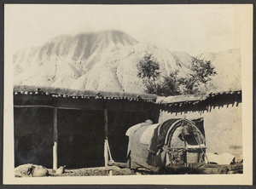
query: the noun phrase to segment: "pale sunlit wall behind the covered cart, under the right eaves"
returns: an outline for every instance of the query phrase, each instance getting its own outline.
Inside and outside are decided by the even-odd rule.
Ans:
[[[229,106],[208,106],[207,111],[166,112],[160,110],[159,123],[170,118],[204,118],[207,152],[230,152],[242,158],[241,103]]]

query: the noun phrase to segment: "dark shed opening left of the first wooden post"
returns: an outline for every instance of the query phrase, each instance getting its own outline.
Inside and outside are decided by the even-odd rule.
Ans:
[[[15,107],[15,167],[40,164],[52,168],[53,109]]]

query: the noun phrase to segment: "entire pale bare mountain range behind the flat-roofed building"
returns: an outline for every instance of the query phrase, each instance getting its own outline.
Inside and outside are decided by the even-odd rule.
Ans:
[[[163,76],[178,71],[178,77],[188,77],[191,72],[192,56],[186,52],[138,43],[122,31],[101,31],[55,37],[40,47],[14,54],[15,84],[143,93],[137,63],[146,53],[160,62]],[[239,49],[197,57],[211,60],[218,72],[201,86],[202,91],[241,89]]]

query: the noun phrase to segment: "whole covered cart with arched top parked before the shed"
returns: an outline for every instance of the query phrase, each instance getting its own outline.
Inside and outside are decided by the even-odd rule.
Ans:
[[[199,167],[207,161],[206,140],[194,122],[186,118],[164,123],[139,123],[127,130],[127,167],[154,173],[166,168]]]

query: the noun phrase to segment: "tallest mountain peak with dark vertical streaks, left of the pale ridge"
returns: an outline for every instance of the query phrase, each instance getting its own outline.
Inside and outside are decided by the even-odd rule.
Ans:
[[[46,80],[42,84],[49,85],[60,83],[62,77],[77,79],[95,66],[104,54],[134,44],[137,40],[122,31],[55,37],[41,47],[21,50],[14,55],[15,83]]]

